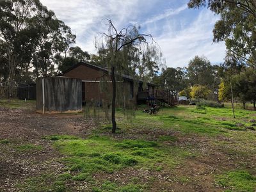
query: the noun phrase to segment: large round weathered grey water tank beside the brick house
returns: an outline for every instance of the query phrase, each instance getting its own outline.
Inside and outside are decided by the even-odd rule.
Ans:
[[[70,77],[36,79],[38,113],[77,113],[82,111],[82,81]]]

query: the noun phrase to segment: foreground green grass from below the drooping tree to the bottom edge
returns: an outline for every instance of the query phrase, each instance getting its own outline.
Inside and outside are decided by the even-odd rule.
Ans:
[[[87,139],[74,136],[46,136],[45,140],[65,155],[60,161],[65,164],[65,173],[44,174],[26,179],[17,187],[24,191],[72,191],[67,187],[70,182],[86,182],[92,185],[91,191],[140,192],[144,186],[100,181],[96,173],[113,173],[125,168],[143,168],[156,171],[171,170],[191,154],[177,147],[163,145],[161,142],[145,140],[115,140],[107,136],[91,136]],[[173,140],[173,138],[168,138]],[[34,145],[19,146],[20,150],[35,149]]]

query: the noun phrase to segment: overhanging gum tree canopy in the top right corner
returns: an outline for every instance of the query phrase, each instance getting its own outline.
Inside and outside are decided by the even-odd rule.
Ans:
[[[213,30],[214,42],[225,41],[229,54],[256,67],[255,0],[190,0],[188,6],[207,6],[220,15]]]

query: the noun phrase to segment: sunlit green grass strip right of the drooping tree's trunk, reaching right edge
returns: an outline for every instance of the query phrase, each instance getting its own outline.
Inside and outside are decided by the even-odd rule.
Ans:
[[[161,109],[157,115],[148,115],[141,110],[136,111],[136,117],[132,124],[127,120],[118,121],[118,132],[140,129],[175,130],[183,134],[199,134],[202,136],[218,136],[227,130],[244,131],[250,126],[248,121],[253,111],[236,109],[236,118],[232,118],[230,108],[207,108],[207,113],[202,114],[195,106],[180,106],[178,108]],[[237,124],[243,121],[244,127]],[[109,125],[107,125],[109,126]],[[106,128],[104,128],[106,129]],[[109,130],[102,130],[102,132]]]

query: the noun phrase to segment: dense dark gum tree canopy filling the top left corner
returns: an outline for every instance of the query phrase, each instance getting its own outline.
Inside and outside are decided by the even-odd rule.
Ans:
[[[8,74],[3,78],[11,87],[17,70],[24,73],[33,67],[36,77],[54,74],[57,56],[67,51],[75,38],[39,0],[0,1],[0,52],[4,52],[0,60]]]

